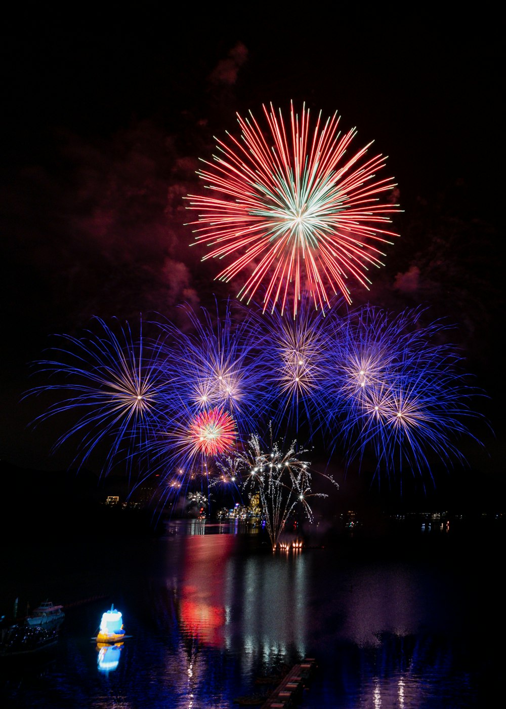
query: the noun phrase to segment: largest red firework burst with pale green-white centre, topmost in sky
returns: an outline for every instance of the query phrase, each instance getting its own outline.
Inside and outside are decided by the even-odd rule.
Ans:
[[[369,267],[383,265],[378,245],[395,236],[383,227],[398,205],[380,199],[395,184],[376,179],[385,158],[366,158],[371,143],[348,157],[356,129],[341,135],[337,113],[325,123],[320,113],[310,130],[305,105],[300,118],[291,107],[289,128],[281,110],[263,108],[268,130],[252,113],[237,114],[240,140],[227,134],[214,162],[204,161],[209,169],[198,172],[224,198],[188,197],[199,212],[196,243],[213,247],[203,259],[234,255],[218,279],[247,272],[238,297],[249,302],[264,286],[264,311],[292,301],[295,316],[305,290],[317,308],[339,291],[351,302],[347,279],[367,287]]]

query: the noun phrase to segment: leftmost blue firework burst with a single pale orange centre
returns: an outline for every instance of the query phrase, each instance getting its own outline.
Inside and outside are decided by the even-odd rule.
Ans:
[[[101,318],[94,318],[93,323],[97,332],[58,336],[61,345],[50,350],[52,359],[35,362],[36,372],[49,375],[49,382],[25,396],[64,395],[33,425],[77,412],[77,422],[58,438],[53,450],[79,435],[72,464],[79,462],[81,467],[99,443],[110,442],[103,474],[122,460],[130,474],[133,457],[146,449],[166,407],[169,382],[161,367],[162,342],[145,341],[142,323],[136,339],[128,323],[122,327],[116,321],[114,329]]]

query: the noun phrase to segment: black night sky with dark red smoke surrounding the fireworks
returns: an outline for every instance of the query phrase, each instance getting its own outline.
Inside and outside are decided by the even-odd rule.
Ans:
[[[82,6],[72,17],[13,12],[4,23],[0,457],[42,470],[69,464],[68,450],[50,457],[50,426],[27,429],[36,402],[19,403],[28,363],[52,333],[78,334],[91,316],[177,318],[180,303],[235,296],[189,247],[182,198],[202,189],[195,171],[213,136],[237,133],[236,111],[260,116],[272,102],[288,116],[293,100],[325,117],[338,111],[343,130],[356,125],[357,148],[375,140],[389,156],[401,236],[354,303],[420,304],[456,324],[466,369],[490,397],[476,402],[491,430],[477,430],[484,447],[466,451],[466,486],[496,495],[505,428],[500,22],[254,10],[200,16],[188,6],[174,16],[160,5],[113,16]]]

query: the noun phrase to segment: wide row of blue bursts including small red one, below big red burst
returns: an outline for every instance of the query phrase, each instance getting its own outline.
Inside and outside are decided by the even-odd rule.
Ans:
[[[154,341],[133,340],[128,325],[116,336],[96,319],[100,335],[62,336],[59,357],[38,363],[50,381],[30,393],[64,396],[35,423],[75,411],[56,446],[79,434],[82,463],[107,445],[105,472],[145,457],[174,492],[220,476],[217,459],[268,425],[310,432],[348,462],[372,455],[389,477],[463,459],[478,392],[444,344],[444,323],[424,325],[420,308],[373,306],[323,318],[301,303],[296,320],[248,310],[236,323],[226,303],[223,318],[203,309],[202,323],[188,309],[193,332],[158,323]]]

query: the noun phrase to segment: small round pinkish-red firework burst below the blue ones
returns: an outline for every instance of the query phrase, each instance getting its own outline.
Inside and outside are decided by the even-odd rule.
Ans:
[[[188,435],[193,450],[204,455],[225,453],[237,439],[235,421],[222,408],[199,411],[191,420]]]

